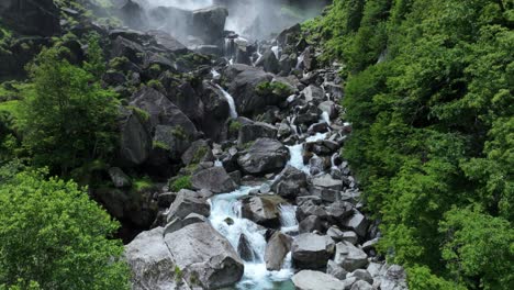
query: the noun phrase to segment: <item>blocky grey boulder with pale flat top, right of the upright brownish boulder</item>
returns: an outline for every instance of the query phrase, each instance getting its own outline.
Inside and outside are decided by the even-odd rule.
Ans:
[[[329,236],[301,234],[292,243],[292,260],[301,269],[323,268],[334,255],[334,241]]]

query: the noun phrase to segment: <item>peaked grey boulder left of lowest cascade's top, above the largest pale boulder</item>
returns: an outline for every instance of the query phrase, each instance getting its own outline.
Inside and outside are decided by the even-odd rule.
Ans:
[[[178,192],[177,199],[168,210],[168,222],[171,222],[176,217],[185,219],[190,213],[209,216],[211,214],[211,205],[199,197],[197,192],[182,189]]]

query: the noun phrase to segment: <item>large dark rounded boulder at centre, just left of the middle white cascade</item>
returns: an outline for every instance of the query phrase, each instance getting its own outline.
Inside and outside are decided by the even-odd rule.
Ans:
[[[265,175],[280,171],[289,159],[289,150],[282,143],[259,138],[246,153],[237,159],[245,172]]]

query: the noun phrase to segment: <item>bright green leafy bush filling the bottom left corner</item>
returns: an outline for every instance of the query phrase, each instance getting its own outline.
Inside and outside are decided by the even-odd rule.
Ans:
[[[18,174],[0,207],[1,289],[128,289],[119,224],[72,181]]]

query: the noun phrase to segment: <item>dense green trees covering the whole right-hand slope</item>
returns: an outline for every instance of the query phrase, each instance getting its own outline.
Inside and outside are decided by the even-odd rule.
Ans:
[[[514,3],[336,0],[344,155],[411,289],[514,289]]]

